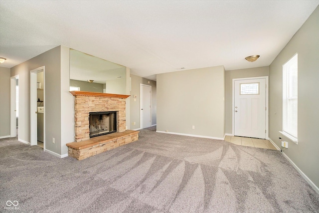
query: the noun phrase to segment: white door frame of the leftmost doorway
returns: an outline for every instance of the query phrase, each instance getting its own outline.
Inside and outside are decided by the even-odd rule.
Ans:
[[[16,137],[16,79],[19,78],[19,75],[14,75],[10,77],[10,137]],[[19,101],[20,103],[20,101]],[[18,123],[20,119],[18,119]],[[18,129],[20,125],[18,124]],[[18,130],[19,131],[19,130]],[[18,134],[19,137],[19,134]]]

